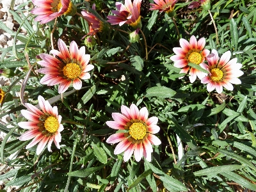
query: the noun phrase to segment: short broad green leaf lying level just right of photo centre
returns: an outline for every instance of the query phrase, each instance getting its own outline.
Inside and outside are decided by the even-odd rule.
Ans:
[[[167,88],[166,86],[154,86],[152,88],[148,88],[145,94],[145,97],[164,97],[164,98],[172,98],[175,95],[175,91],[171,88]]]

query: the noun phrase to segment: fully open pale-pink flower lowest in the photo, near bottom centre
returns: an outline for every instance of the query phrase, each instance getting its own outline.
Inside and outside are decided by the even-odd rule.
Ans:
[[[128,161],[132,154],[135,160],[140,161],[144,156],[147,161],[151,161],[151,153],[153,145],[160,145],[161,141],[156,134],[159,132],[156,116],[148,118],[148,109],[141,108],[140,111],[135,104],[131,104],[130,108],[121,106],[120,113],[112,113],[114,121],[108,121],[106,124],[112,129],[118,129],[117,132],[109,136],[107,143],[118,143],[114,154],[124,152],[124,161]]]

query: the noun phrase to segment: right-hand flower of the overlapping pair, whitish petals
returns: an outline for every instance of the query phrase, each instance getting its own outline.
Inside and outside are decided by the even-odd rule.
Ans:
[[[201,79],[201,83],[207,83],[208,92],[216,89],[218,93],[221,93],[223,87],[232,91],[234,88],[232,84],[241,84],[241,80],[237,77],[244,74],[240,70],[242,64],[237,63],[237,58],[230,60],[230,57],[231,52],[227,51],[219,58],[215,49],[207,56],[208,65],[204,64],[203,68],[208,70],[209,74]]]

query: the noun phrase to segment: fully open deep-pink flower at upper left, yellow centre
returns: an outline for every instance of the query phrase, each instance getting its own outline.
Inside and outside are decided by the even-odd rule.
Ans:
[[[90,79],[88,71],[94,68],[93,65],[88,65],[90,54],[85,54],[85,47],[78,49],[74,41],[70,43],[69,51],[61,39],[58,40],[58,47],[60,51],[54,49],[50,51],[55,57],[45,53],[40,54],[42,61],[37,63],[44,68],[40,68],[38,72],[45,74],[40,83],[49,86],[60,84],[59,93],[64,93],[71,83],[76,90],[80,90],[81,79]]]

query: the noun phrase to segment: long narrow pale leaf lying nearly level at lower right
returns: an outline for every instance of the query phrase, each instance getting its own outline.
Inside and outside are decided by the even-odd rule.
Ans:
[[[196,177],[203,176],[203,175],[217,175],[218,173],[225,173],[225,172],[231,172],[234,170],[239,170],[244,168],[243,165],[239,164],[229,164],[229,165],[221,165],[221,166],[214,166],[210,168],[205,168],[204,170],[200,170],[197,172],[194,172],[193,174]]]

